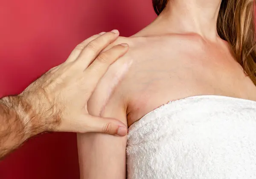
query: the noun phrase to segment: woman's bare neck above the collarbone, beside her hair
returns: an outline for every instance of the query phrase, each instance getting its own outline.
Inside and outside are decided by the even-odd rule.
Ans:
[[[221,0],[169,0],[163,12],[137,35],[197,34],[216,39]]]

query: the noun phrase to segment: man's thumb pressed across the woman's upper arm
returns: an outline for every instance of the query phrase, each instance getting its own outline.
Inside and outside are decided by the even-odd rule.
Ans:
[[[112,118],[101,118],[88,115],[88,132],[107,133],[117,136],[126,136],[127,127],[122,122]]]

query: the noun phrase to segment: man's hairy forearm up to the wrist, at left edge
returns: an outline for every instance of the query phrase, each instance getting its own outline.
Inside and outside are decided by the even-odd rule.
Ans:
[[[0,159],[43,132],[31,104],[22,96],[0,99]]]

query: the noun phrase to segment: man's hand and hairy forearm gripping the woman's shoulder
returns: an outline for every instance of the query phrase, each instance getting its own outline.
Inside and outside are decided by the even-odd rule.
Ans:
[[[118,36],[114,30],[88,38],[67,61],[50,69],[20,95],[0,100],[0,158],[45,131],[127,134],[117,119],[92,116],[87,111],[87,101],[99,80],[128,51],[128,44],[121,44],[102,52]],[[124,65],[128,68],[130,64]]]

